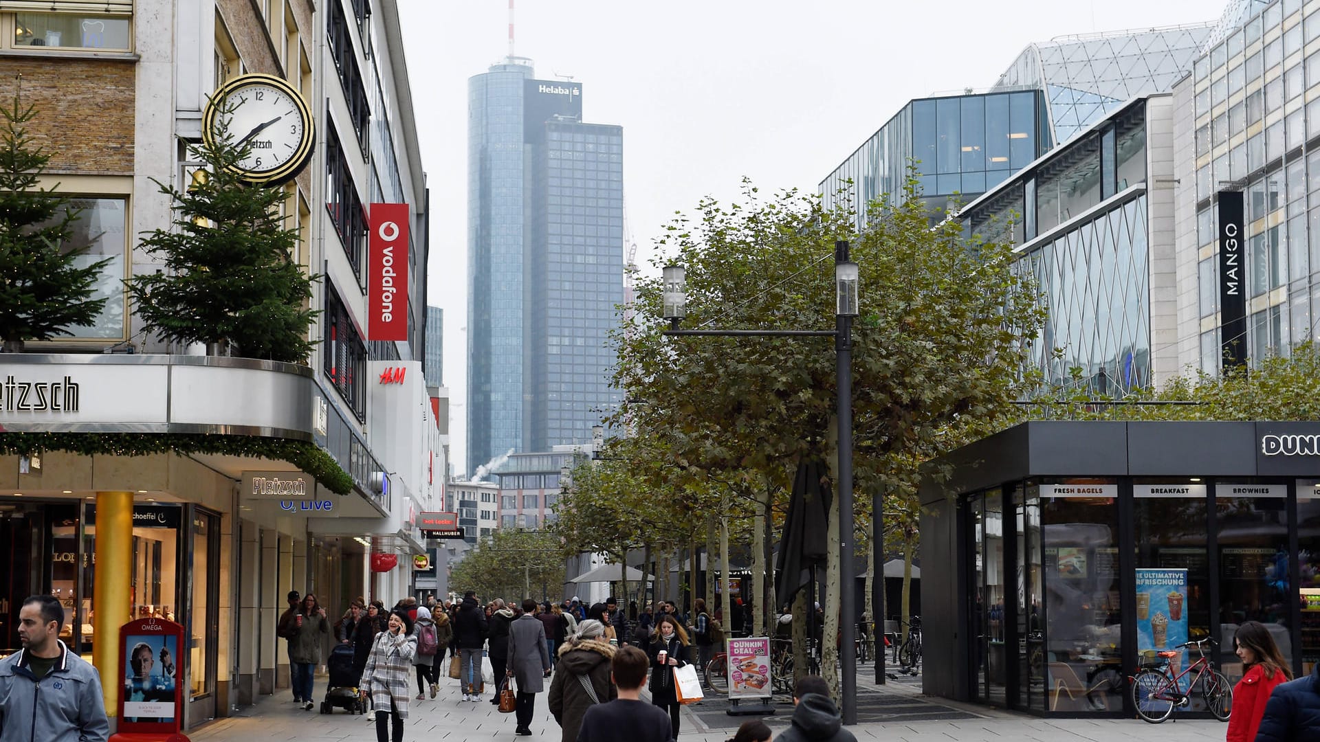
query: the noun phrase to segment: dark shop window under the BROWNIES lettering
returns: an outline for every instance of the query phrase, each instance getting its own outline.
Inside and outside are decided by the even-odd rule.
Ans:
[[[1220,659],[1234,683],[1243,673],[1233,655],[1233,632],[1247,621],[1270,630],[1283,658],[1292,661],[1288,601],[1288,518],[1286,487],[1225,485],[1214,487],[1218,536]]]

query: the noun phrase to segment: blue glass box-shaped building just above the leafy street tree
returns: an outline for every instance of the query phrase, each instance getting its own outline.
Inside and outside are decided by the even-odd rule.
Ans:
[[[820,184],[826,206],[866,206],[899,194],[915,161],[932,214],[994,187],[1049,149],[1039,92],[956,95],[912,100]],[[851,182],[849,182],[851,181]]]

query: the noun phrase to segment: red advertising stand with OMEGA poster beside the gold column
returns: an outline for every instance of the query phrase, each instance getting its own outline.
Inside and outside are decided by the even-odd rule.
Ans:
[[[119,628],[119,731],[111,742],[187,742],[180,733],[183,648],[183,626],[173,621],[143,618]]]

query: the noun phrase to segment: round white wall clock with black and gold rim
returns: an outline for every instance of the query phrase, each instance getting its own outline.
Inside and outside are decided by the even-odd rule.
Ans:
[[[235,169],[249,182],[285,182],[312,157],[312,111],[275,75],[242,75],[215,92],[202,116],[202,136],[210,141],[226,127],[235,144],[248,147]]]

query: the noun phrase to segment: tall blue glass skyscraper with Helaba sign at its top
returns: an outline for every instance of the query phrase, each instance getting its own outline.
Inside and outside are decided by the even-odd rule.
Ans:
[[[508,57],[469,81],[467,470],[590,442],[618,401],[623,129],[582,121],[582,86]]]

